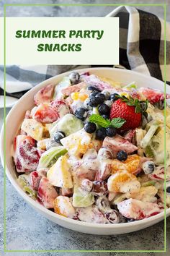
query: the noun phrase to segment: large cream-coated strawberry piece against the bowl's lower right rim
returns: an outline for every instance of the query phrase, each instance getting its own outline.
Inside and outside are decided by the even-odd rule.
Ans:
[[[154,216],[164,210],[155,202],[142,202],[132,198],[117,203],[117,208],[122,216],[135,220]]]

